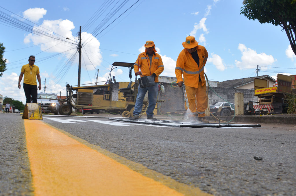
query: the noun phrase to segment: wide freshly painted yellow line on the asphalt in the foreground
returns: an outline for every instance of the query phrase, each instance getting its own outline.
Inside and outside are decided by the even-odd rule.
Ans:
[[[208,195],[141,175],[42,121],[25,120],[25,130],[35,195]]]

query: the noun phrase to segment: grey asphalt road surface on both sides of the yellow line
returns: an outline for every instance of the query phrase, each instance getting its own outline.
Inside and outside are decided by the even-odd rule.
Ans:
[[[2,124],[1,135],[13,133],[15,137],[1,137],[0,140],[0,194],[9,195],[10,191],[11,195],[19,195],[18,192],[29,195],[33,188],[28,186],[31,174],[28,173],[23,120],[13,114],[0,114],[0,118],[10,125],[7,130],[7,126]],[[44,117],[43,122],[106,150],[104,154],[122,164],[140,163],[151,171],[199,187],[206,193],[296,195],[295,125],[173,128],[62,116]],[[6,155],[4,160],[3,154]],[[255,160],[254,156],[263,160]],[[11,157],[14,158],[13,169]],[[26,175],[20,170],[26,171]],[[17,181],[20,173],[23,181]]]

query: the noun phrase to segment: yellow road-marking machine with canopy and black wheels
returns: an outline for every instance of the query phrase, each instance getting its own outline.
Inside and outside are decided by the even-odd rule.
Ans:
[[[133,82],[130,81],[126,88],[118,89],[123,94],[123,99],[118,99],[118,91],[113,91],[118,84],[116,84],[114,76],[111,78],[111,72],[115,69],[114,66],[126,67],[129,69],[129,78],[131,79],[133,65],[134,63],[114,62],[108,80],[103,85],[74,87],[67,84],[66,103],[59,107],[59,113],[61,115],[70,115],[73,107],[77,109],[105,110],[111,114],[125,112],[125,117],[129,117],[132,115],[135,106],[139,83],[136,81],[132,86]]]

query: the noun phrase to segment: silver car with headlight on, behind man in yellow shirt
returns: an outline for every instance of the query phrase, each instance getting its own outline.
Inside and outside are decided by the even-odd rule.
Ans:
[[[37,103],[40,103],[42,113],[54,113],[54,115],[58,115],[59,101],[57,95],[52,93],[38,93]]]

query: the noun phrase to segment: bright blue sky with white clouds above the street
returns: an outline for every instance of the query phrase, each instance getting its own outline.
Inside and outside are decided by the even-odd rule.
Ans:
[[[164,71],[161,75],[175,76],[182,42],[189,35],[195,36],[209,53],[205,67],[209,80],[252,77],[256,75],[257,65],[260,68],[258,75],[276,78],[277,73],[296,74],[296,57],[286,33],[280,26],[260,24],[240,15],[242,1],[140,0],[131,7],[136,1],[2,2],[1,7],[10,12],[0,7],[1,12],[16,18],[19,17],[15,14],[24,17],[27,20],[19,19],[34,28],[42,29],[42,26],[46,29],[42,30],[54,32],[59,40],[12,27],[0,18],[0,42],[6,47],[4,58],[8,60],[7,71],[0,78],[0,94],[25,103],[23,89],[18,89],[17,83],[21,67],[28,63],[30,55],[35,55],[35,65],[40,69],[42,92],[45,79],[46,92],[50,93],[61,91],[65,95],[66,83],[77,85],[78,53],[74,41],[78,41],[80,25],[83,43],[81,84],[95,82],[96,69],[99,69],[98,81],[105,81],[115,61],[135,62],[148,40],[154,41],[162,56]],[[110,6],[102,7],[106,2],[110,2]],[[115,2],[118,3],[115,5]],[[110,17],[120,4],[123,4],[121,9]],[[109,25],[113,20],[115,22]],[[129,81],[128,69],[117,68],[112,71],[113,75],[116,81]]]

